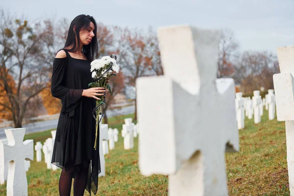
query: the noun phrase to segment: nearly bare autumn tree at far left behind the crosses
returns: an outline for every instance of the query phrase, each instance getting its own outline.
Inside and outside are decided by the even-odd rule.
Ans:
[[[8,104],[0,105],[11,113],[16,128],[22,127],[29,101],[48,81],[48,68],[38,62],[44,34],[44,28],[34,30],[38,25],[29,25],[0,11],[0,83],[9,100]],[[9,85],[8,75],[15,80],[15,91]]]

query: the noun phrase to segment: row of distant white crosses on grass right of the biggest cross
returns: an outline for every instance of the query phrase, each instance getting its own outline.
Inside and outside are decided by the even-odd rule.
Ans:
[[[253,92],[252,99],[250,97],[242,97],[242,93],[236,93],[235,106],[237,115],[238,129],[245,127],[245,116],[252,119],[254,115],[254,123],[261,122],[264,106],[269,111],[269,120],[273,120],[275,116],[275,96],[273,90],[269,89],[269,94],[265,98],[261,98],[259,91]]]

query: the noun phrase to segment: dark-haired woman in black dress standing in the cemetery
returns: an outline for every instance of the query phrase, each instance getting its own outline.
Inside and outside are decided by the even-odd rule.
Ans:
[[[83,196],[85,189],[90,195],[92,189],[96,195],[98,189],[100,160],[99,149],[94,149],[92,110],[95,99],[100,100],[96,96],[105,95],[105,89],[88,87],[92,82],[90,63],[98,57],[96,33],[93,17],[75,17],[65,47],[57,52],[53,62],[51,93],[61,99],[62,108],[51,163],[62,169],[60,196],[70,196],[73,178],[74,196]]]

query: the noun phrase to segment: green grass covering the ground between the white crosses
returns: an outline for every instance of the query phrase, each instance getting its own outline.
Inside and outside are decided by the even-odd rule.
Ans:
[[[99,196],[167,196],[168,177],[140,174],[138,167],[138,138],[134,148],[123,149],[121,129],[126,115],[108,119],[111,128],[118,128],[119,142],[105,155],[106,176],[99,178]],[[245,118],[245,129],[240,130],[240,152],[226,153],[227,184],[230,196],[289,196],[286,159],[285,123],[268,120],[265,111],[262,122],[254,124]],[[25,135],[42,143],[51,137],[50,131]],[[47,170],[44,162],[31,162],[27,172],[29,196],[58,196],[60,170]],[[0,196],[6,195],[5,185]],[[85,195],[89,195],[86,192]]]

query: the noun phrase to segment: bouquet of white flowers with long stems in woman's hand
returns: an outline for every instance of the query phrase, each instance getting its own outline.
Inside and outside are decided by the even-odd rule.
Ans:
[[[91,82],[89,84],[89,87],[103,87],[107,88],[109,92],[111,93],[111,89],[109,84],[106,84],[106,78],[111,77],[112,75],[116,76],[117,73],[119,73],[119,66],[116,63],[116,55],[111,56],[103,56],[101,59],[95,59],[91,62],[91,70],[92,72],[92,78],[95,79],[94,82]],[[116,73],[113,73],[116,72]],[[96,138],[95,138],[95,145],[94,148],[97,147],[97,137],[98,137],[98,126],[99,122],[101,121],[102,117],[104,116],[104,113],[101,114],[102,117],[99,120],[99,114],[100,114],[100,107],[102,104],[105,104],[105,94],[104,96],[98,96],[100,100],[96,100],[96,107],[93,109],[93,117],[96,120]]]

